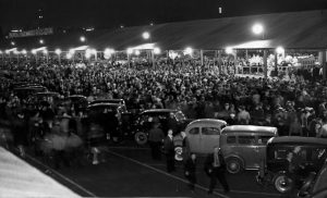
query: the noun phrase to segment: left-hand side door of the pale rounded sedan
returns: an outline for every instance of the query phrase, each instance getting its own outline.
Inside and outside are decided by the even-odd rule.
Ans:
[[[201,152],[199,127],[193,126],[186,128],[187,149],[190,152]]]

